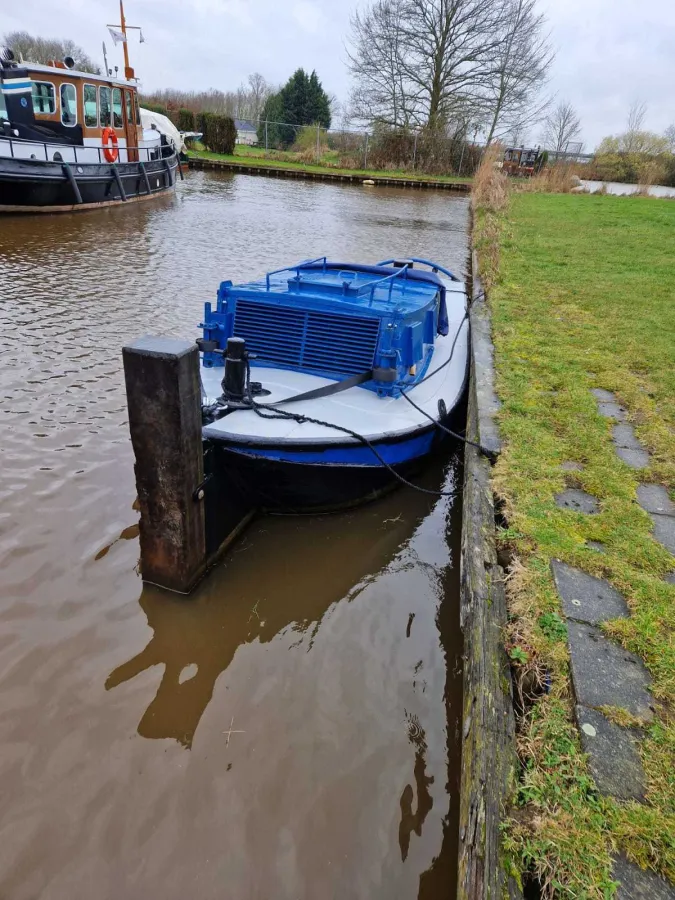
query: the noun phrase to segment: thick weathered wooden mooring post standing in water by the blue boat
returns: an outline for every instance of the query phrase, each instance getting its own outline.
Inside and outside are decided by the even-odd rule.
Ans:
[[[144,581],[187,593],[206,569],[199,351],[143,337],[122,349]],[[201,493],[201,497],[199,496]]]

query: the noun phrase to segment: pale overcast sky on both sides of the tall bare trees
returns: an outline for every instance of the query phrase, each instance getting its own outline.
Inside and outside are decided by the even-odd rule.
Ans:
[[[273,83],[294,69],[316,69],[323,85],[347,98],[344,44],[358,0],[127,0],[131,64],[143,88],[235,89],[250,72]],[[675,0],[540,0],[557,57],[551,88],[578,110],[593,149],[620,131],[634,100],[648,104],[645,127],[675,122]],[[360,0],[363,5],[364,0]],[[105,39],[109,64],[122,65],[105,29],[118,21],[115,0],[3,4],[0,33],[22,29],[70,37],[97,60]],[[133,32],[132,32],[133,34]],[[533,137],[537,137],[535,133]]]

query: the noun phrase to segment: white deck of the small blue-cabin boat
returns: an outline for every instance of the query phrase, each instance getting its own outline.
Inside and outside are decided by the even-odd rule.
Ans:
[[[449,355],[458,329],[461,330],[452,360],[437,375],[409,391],[411,400],[424,409],[435,420],[438,419],[438,401],[443,400],[448,411],[461,397],[467,369],[468,320],[462,319],[465,311],[465,286],[461,282],[446,281],[449,329],[447,337],[437,336],[434,353],[426,374],[433,372]],[[201,369],[202,384],[208,398],[215,399],[222,393],[220,382],[222,367]],[[251,379],[262,382],[271,391],[269,396],[257,398],[260,403],[275,403],[285,397],[311,391],[324,385],[334,384],[330,378],[308,375],[287,369],[264,366],[251,368]],[[281,406],[289,412],[311,416],[324,422],[334,422],[344,428],[356,431],[369,440],[386,436],[403,435],[429,425],[426,416],[418,412],[403,397],[378,397],[374,391],[362,387],[349,388],[334,396],[317,400],[301,400]],[[353,439],[341,432],[305,422],[302,425],[283,419],[263,419],[250,410],[238,410],[207,425],[205,437],[226,440],[233,443],[253,442],[259,445],[279,443],[292,444],[345,443]]]

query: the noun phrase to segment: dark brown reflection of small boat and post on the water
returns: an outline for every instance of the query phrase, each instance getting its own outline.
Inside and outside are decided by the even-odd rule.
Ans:
[[[140,653],[110,673],[106,689],[164,666],[138,733],[173,738],[189,749],[216,680],[237,649],[254,641],[268,643],[288,628],[299,635],[316,634],[331,605],[352,599],[377,579],[430,505],[427,496],[413,494],[405,515],[389,516],[400,509],[400,496],[392,494],[370,516],[366,511],[366,521],[374,527],[365,534],[358,510],[259,520],[190,599],[144,586],[139,602],[153,636]],[[414,559],[412,548],[408,553]],[[406,630],[409,635],[410,624]],[[188,667],[193,667],[189,677]]]

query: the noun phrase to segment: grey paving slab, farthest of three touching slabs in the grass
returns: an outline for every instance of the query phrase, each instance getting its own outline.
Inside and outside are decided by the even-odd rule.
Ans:
[[[551,560],[551,570],[568,619],[598,625],[608,619],[628,617],[626,601],[607,581],[559,559]]]

